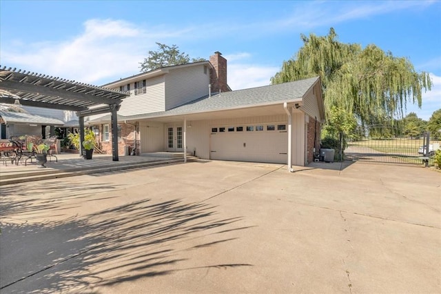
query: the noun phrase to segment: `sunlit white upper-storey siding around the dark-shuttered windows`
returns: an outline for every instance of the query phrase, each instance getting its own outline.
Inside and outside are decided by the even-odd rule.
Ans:
[[[123,99],[119,115],[141,115],[165,110],[164,76],[147,79],[146,93],[134,95],[134,84],[130,84],[130,97]],[[141,78],[139,82],[143,82]],[[117,89],[119,90],[119,88]]]

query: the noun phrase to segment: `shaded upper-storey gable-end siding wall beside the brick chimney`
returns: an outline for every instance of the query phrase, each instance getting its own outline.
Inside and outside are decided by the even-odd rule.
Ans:
[[[165,75],[165,110],[186,104],[208,95],[209,69],[189,66],[170,71]]]

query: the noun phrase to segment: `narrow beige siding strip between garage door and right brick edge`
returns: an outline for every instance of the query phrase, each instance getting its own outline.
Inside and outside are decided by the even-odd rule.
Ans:
[[[294,166],[305,166],[305,114],[292,114],[292,154]]]

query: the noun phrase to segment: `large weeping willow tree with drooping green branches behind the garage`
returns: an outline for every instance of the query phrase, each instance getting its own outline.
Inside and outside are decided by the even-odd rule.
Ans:
[[[337,37],[334,28],[325,37],[301,35],[304,45],[271,84],[320,76],[327,113],[334,106],[363,125],[393,124],[408,102],[421,107],[422,90],[432,86],[427,72],[416,72],[408,59],[375,45],[361,48]]]

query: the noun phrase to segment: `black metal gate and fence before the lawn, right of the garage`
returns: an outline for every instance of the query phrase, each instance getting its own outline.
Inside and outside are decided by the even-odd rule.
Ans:
[[[438,139],[438,138],[436,138]],[[362,134],[346,134],[345,159],[393,164],[424,164],[432,159],[429,144],[439,146],[429,133],[417,137],[399,135],[394,128],[366,128]],[[437,145],[438,144],[438,145]],[[426,159],[424,159],[424,157]]]

